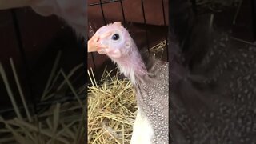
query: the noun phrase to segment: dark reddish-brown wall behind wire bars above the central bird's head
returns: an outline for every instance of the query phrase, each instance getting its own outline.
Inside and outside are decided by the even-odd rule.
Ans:
[[[88,3],[94,3],[95,1],[89,0]],[[146,23],[151,25],[164,25],[162,20],[162,1],[143,1],[145,3],[146,8]],[[165,14],[166,14],[166,25],[168,25],[168,0],[164,0],[165,6]],[[114,4],[115,3],[115,4]],[[142,2],[140,0],[129,0],[129,1],[122,1],[124,12],[126,16],[127,22],[138,22],[143,23],[143,15],[142,15]],[[119,9],[120,2],[113,2],[112,4],[103,4],[104,14],[107,14],[107,20],[117,20],[122,21],[122,14],[121,8]],[[157,6],[157,7],[156,7]],[[91,15],[92,18],[102,18],[102,13],[99,11],[100,6],[89,6],[88,14]]]

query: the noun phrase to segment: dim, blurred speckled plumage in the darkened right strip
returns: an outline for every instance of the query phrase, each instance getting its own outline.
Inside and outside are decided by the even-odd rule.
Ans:
[[[256,143],[255,55],[254,46],[235,42],[228,34],[215,34],[214,45],[198,67],[205,78],[203,85],[214,83],[215,87],[206,90],[209,94],[200,90],[208,101],[198,105],[198,113],[190,113],[194,106],[178,106],[172,99],[176,106],[171,114],[175,142]],[[210,109],[206,109],[208,104]]]

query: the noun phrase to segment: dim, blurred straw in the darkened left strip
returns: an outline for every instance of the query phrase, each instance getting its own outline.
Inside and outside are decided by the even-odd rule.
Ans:
[[[57,86],[57,89],[61,89],[62,86],[68,86],[72,92],[74,100],[66,102],[50,102],[49,105],[41,110],[43,112],[38,115],[32,114],[32,110],[26,104],[26,98],[22,92],[14,62],[10,58],[10,65],[12,66],[14,78],[22,99],[22,105],[26,110],[26,115],[22,115],[22,111],[18,108],[14,94],[10,88],[8,79],[6,78],[6,72],[0,63],[1,76],[16,114],[14,118],[11,119],[4,119],[0,116],[0,124],[4,124],[4,127],[0,128],[0,136],[2,137],[0,139],[0,143],[84,143],[84,128],[86,126],[84,103],[86,102],[86,90],[85,86],[81,86],[76,89],[70,82],[72,75],[77,70],[81,70],[83,64],[76,66],[70,71],[70,74],[65,74],[63,70],[57,70],[60,57],[61,52],[58,53],[54,62],[46,88],[41,97],[41,102],[50,102],[49,100],[57,95],[55,91],[52,90],[54,86]]]

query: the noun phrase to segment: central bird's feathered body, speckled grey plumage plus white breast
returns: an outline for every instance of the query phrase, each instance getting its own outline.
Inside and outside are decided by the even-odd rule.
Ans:
[[[147,62],[146,68],[149,74],[136,78],[134,84],[138,115],[134,122],[131,144],[165,144],[169,142],[168,63],[151,59]],[[148,125],[144,126],[143,123]],[[141,138],[139,135],[142,135]]]

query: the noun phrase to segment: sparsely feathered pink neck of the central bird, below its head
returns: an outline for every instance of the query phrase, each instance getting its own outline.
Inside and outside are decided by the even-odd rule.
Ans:
[[[136,83],[136,78],[147,74],[146,66],[137,48],[122,58],[112,58],[112,60],[117,63],[121,74],[129,78],[133,84]]]

